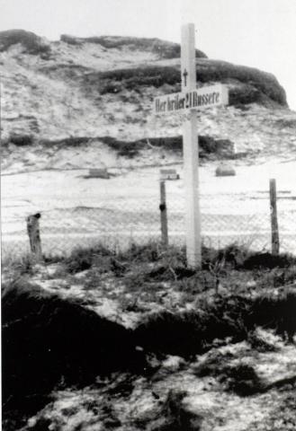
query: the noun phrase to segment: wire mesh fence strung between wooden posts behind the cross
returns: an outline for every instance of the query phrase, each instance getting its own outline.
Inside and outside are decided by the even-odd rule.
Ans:
[[[271,216],[268,180],[261,189],[203,188],[200,194],[202,242],[215,249],[231,243],[256,251],[271,251]],[[63,205],[41,205],[40,237],[47,255],[66,255],[76,248],[104,244],[124,249],[131,243],[161,241],[159,180],[150,181],[153,193],[139,191],[133,183],[120,196],[108,195],[108,187],[95,200],[68,196]],[[107,191],[106,191],[107,190]],[[58,189],[53,190],[57,199]],[[87,193],[86,193],[87,195]],[[65,198],[65,194],[63,194]],[[46,199],[46,196],[44,197]],[[39,196],[40,199],[40,196]],[[38,200],[38,199],[37,199]],[[60,201],[60,202],[61,202]],[[33,208],[39,209],[40,200]],[[57,203],[56,203],[57,204]],[[74,206],[73,206],[74,204]],[[25,211],[9,211],[3,204],[2,254],[15,256],[29,252]],[[21,206],[21,204],[20,204]],[[22,206],[21,206],[22,207]],[[182,181],[166,181],[168,242],[185,243],[185,198]],[[280,251],[296,253],[296,202],[292,193],[280,190],[277,197]]]

